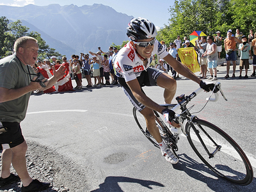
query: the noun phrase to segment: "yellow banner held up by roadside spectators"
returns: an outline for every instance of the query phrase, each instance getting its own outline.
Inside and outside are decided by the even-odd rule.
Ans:
[[[193,73],[200,71],[200,66],[197,61],[197,54],[193,47],[178,49],[178,54],[181,63],[186,65]]]

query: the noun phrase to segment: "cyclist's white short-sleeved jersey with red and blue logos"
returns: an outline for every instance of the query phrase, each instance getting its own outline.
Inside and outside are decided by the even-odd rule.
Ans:
[[[164,49],[163,45],[157,40],[154,44],[151,58],[148,58],[148,63],[145,67],[141,58],[136,54],[136,50],[132,46],[131,42],[127,43],[122,49],[120,49],[115,60],[114,67],[116,70],[116,76],[124,78],[125,82],[132,81],[133,79],[136,79],[136,77],[140,77],[141,72],[149,67],[154,54],[157,54],[161,59],[168,55],[168,52]]]

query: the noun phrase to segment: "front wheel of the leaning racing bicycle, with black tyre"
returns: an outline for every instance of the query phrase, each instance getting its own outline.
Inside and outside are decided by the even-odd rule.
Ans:
[[[202,131],[201,127],[206,131]],[[253,180],[253,169],[248,157],[237,143],[222,131],[216,125],[198,118],[193,119],[193,124],[186,124],[188,141],[196,155],[207,165],[214,173],[220,177],[239,185],[248,185]],[[201,136],[205,146],[212,153],[216,147],[209,139],[209,136],[221,145],[220,150],[209,157],[204,146],[199,141],[196,132]]]

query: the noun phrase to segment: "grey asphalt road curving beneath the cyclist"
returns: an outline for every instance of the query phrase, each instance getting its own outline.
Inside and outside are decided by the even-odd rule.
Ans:
[[[224,79],[225,67],[218,70],[218,81],[228,101],[220,97],[218,102],[209,102],[198,116],[227,132],[250,157],[255,172],[256,78]],[[252,68],[248,74],[252,74]],[[86,85],[85,79],[83,84]],[[184,77],[177,80],[177,85],[176,95],[188,95],[198,88],[198,84]],[[163,89],[144,90],[148,97],[163,104]],[[209,93],[191,101],[191,105],[195,104],[193,111],[204,106],[206,97]],[[120,86],[31,95],[28,115],[21,125],[26,140],[52,148],[85,170],[86,180],[74,181],[89,186],[81,191],[255,191],[256,188],[255,179],[249,186],[236,186],[216,177],[196,157],[186,137],[181,137],[178,143],[180,162],[173,166],[165,161],[160,150],[141,134],[132,117],[132,105]]]

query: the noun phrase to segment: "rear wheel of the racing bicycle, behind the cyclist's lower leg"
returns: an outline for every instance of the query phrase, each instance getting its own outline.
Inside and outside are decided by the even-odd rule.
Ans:
[[[150,134],[150,132],[147,129],[147,124],[146,124],[146,120],[145,120],[144,116],[136,108],[132,109],[132,113],[133,113],[133,116],[134,116],[134,119],[135,119],[137,125],[140,128],[140,131],[143,132],[143,134],[146,136],[146,138],[151,143],[153,143],[156,147],[159,148],[157,141],[154,139],[154,137]],[[159,126],[159,125],[157,125],[157,126]]]

